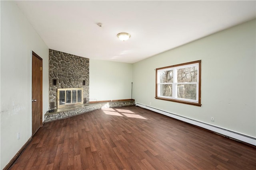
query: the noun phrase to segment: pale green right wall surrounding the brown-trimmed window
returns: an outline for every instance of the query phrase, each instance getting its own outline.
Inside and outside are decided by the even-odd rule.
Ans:
[[[252,20],[134,63],[135,102],[256,137],[255,25]],[[154,98],[154,69],[196,60],[202,60],[202,107]]]

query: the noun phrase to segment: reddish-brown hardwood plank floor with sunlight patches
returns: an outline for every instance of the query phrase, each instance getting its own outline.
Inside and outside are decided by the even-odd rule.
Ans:
[[[136,106],[45,123],[11,170],[253,170],[256,148]]]

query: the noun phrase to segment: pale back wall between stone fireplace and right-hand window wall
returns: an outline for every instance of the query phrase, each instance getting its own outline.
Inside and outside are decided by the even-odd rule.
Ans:
[[[132,64],[90,59],[90,102],[131,98]]]

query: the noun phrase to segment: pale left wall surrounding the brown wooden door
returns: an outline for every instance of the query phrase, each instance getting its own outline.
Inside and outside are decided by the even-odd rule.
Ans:
[[[13,1],[1,1],[1,164],[32,135],[32,59],[43,59],[43,114],[48,110],[48,47]],[[44,116],[43,116],[44,117]],[[20,133],[20,140],[17,139]]]

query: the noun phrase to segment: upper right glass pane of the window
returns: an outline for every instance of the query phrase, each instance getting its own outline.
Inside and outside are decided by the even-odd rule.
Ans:
[[[197,82],[197,66],[177,69],[178,83]]]

